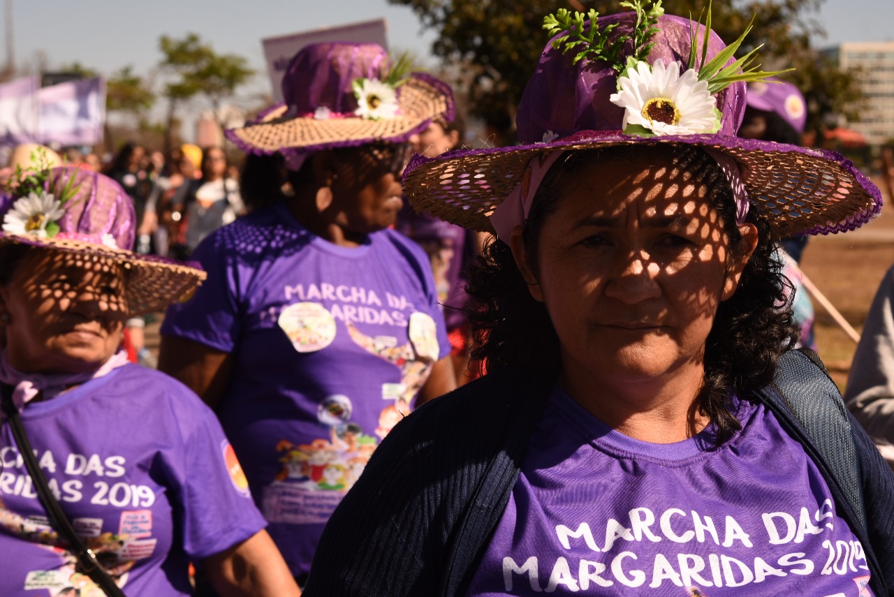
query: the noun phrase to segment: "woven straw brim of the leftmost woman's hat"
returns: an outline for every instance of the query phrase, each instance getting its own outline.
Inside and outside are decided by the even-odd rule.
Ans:
[[[19,234],[0,235],[0,244],[17,243],[38,248],[75,253],[89,260],[91,256],[107,257],[120,263],[127,272],[124,296],[131,315],[145,315],[164,310],[176,302],[192,297],[207,274],[196,267],[183,265],[160,256],[139,255],[132,251],[73,239],[41,239]]]

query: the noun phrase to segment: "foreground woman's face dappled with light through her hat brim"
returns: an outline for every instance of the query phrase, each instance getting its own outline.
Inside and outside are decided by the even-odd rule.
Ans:
[[[566,375],[628,383],[704,363],[717,307],[745,264],[730,256],[704,185],[666,157],[653,165],[661,161],[644,152],[566,174],[536,263],[513,237]],[[756,239],[753,226],[742,228]]]

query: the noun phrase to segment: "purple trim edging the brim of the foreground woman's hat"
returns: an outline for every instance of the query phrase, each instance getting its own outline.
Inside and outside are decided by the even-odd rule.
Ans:
[[[742,139],[740,137],[730,137],[726,135],[667,135],[661,137],[637,137],[634,135],[626,135],[620,130],[581,130],[577,133],[562,139],[547,141],[544,143],[531,143],[527,145],[517,145],[511,147],[484,147],[481,149],[455,149],[443,153],[437,157],[425,157],[420,154],[414,154],[403,171],[401,182],[407,180],[410,172],[416,170],[419,166],[428,164],[429,162],[445,162],[452,159],[470,157],[470,156],[493,156],[498,154],[514,154],[532,150],[546,149],[573,149],[578,145],[588,145],[591,143],[670,143],[680,145],[705,145],[716,147],[718,150],[723,148],[744,149],[746,151],[761,151],[765,153],[789,153],[796,152],[805,156],[815,156],[840,164],[847,172],[849,172],[856,182],[863,187],[864,191],[873,198],[873,209],[858,212],[849,217],[845,222],[826,225],[814,226],[813,228],[801,231],[801,234],[835,234],[838,232],[846,232],[856,230],[864,223],[869,222],[873,217],[881,213],[881,190],[875,186],[873,181],[854,165],[853,162],[842,156],[838,152],[829,149],[820,149],[816,147],[798,147],[797,145],[789,145],[786,143],[776,143],[773,141],[763,141],[759,139]],[[736,156],[733,156],[734,158]]]

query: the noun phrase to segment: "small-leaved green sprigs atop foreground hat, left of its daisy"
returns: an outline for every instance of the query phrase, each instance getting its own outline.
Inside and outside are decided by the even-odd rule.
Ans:
[[[618,27],[617,23],[600,29],[599,13],[592,8],[586,14],[578,13],[578,11],[570,13],[569,10],[560,8],[554,14],[544,17],[543,28],[546,29],[550,37],[559,36],[552,40],[552,47],[561,49],[564,46],[562,54],[568,54],[569,50],[577,51],[572,63],[577,64],[585,58],[587,60],[602,60],[611,64],[614,71],[622,73],[627,71],[630,64],[645,60],[645,56],[649,55],[649,50],[654,47],[649,40],[658,32],[655,25],[658,23],[658,17],[664,14],[664,9],[662,0],[658,0],[654,4],[649,2],[649,4],[652,5],[646,10],[641,0],[620,3],[620,6],[637,13],[637,22],[633,29],[633,54],[626,61],[621,60],[620,53],[624,48],[624,43],[631,37],[629,35],[612,36],[611,32]],[[589,21],[588,29],[585,29],[586,21]]]

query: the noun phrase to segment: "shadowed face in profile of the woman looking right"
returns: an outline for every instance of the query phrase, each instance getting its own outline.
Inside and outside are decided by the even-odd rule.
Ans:
[[[333,212],[346,231],[368,234],[391,226],[403,206],[401,172],[409,146],[362,146],[333,154]]]

